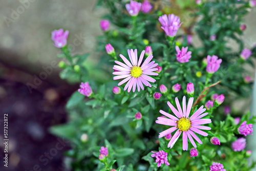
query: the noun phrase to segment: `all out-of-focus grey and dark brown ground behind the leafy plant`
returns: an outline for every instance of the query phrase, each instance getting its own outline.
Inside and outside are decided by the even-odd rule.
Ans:
[[[1,131],[8,113],[8,168],[3,164],[3,131],[0,132],[0,170],[69,170],[64,168],[63,152],[70,143],[51,135],[48,128],[68,120],[65,104],[78,89],[60,79],[51,32],[69,30],[72,53],[90,52],[88,65],[97,62],[96,37],[102,32],[103,8],[94,8],[96,0],[6,0],[0,6],[0,111]],[[256,42],[256,9],[245,18],[245,47]],[[197,38],[193,39],[194,42]],[[250,69],[251,75],[255,70]],[[44,80],[38,80],[38,77]],[[254,91],[254,94],[256,92]],[[254,96],[256,97],[256,95]],[[251,103],[251,98],[234,106]],[[252,107],[256,107],[256,102]],[[254,110],[255,113],[255,110]]]

